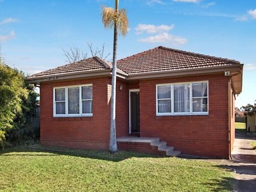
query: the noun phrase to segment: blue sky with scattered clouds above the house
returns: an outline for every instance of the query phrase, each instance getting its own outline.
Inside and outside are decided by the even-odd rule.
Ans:
[[[114,0],[0,0],[0,43],[8,65],[29,74],[65,64],[62,48],[87,50],[106,43],[100,5]],[[120,0],[129,32],[119,37],[118,58],[159,45],[235,59],[245,64],[241,107],[256,100],[255,0]],[[110,58],[109,58],[110,59]]]

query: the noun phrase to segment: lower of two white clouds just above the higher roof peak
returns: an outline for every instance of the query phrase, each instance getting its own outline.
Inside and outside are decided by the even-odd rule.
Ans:
[[[155,36],[138,39],[138,41],[151,43],[170,43],[175,46],[178,46],[185,44],[187,42],[187,39],[164,32]]]

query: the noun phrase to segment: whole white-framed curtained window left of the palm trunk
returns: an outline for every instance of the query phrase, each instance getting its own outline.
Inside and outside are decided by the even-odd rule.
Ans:
[[[54,88],[54,116],[92,116],[93,87],[76,85]]]

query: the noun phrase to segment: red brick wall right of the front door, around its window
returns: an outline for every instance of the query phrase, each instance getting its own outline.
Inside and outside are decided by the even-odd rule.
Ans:
[[[156,116],[156,84],[209,81],[209,115]],[[223,74],[140,81],[140,135],[159,137],[184,154],[229,157],[228,77]]]

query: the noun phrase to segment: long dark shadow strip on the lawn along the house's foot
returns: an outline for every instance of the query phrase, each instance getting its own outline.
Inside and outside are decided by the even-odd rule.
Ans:
[[[28,153],[32,152],[32,153]],[[21,153],[21,154],[20,154]],[[23,154],[22,154],[23,153]],[[41,154],[44,153],[44,154]],[[6,148],[5,150],[0,150],[0,156],[56,156],[56,155],[67,155],[74,157],[83,157],[91,159],[99,159],[106,161],[119,162],[132,157],[151,157],[151,158],[163,158],[163,155],[151,155],[146,153],[135,153],[131,151],[118,151],[115,154],[111,154],[104,150],[79,150],[79,149],[69,149],[57,146],[19,146]]]

